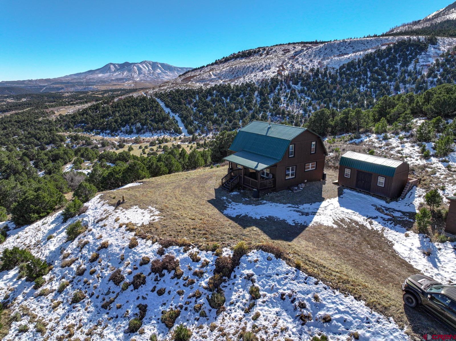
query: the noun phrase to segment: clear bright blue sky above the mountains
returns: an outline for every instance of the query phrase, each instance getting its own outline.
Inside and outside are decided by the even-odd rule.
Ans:
[[[0,1],[0,81],[109,62],[197,67],[258,46],[388,31],[451,0]]]

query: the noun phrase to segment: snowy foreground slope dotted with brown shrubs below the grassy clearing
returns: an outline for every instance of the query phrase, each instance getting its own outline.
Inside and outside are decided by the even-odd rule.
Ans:
[[[6,339],[74,336],[84,340],[90,336],[93,341],[152,340],[150,336],[156,334],[159,340],[171,340],[181,323],[192,331],[191,340],[197,341],[220,336],[235,340],[243,331],[254,331],[262,340],[309,340],[321,332],[330,340],[345,340],[355,333],[359,340],[409,339],[392,319],[372,311],[364,302],[263,251],[242,257],[231,278],[221,285],[224,309],[211,308],[207,296],[212,291],[207,285],[217,258],[213,252],[177,246],[162,249],[151,239],[139,237],[138,244],[130,247],[135,232],[131,225],[125,229],[119,224],[139,226],[160,219],[160,212],[153,208],[114,209],[99,197],[86,205],[85,213],[66,223],[57,213],[13,229],[0,245],[1,251],[28,247],[53,265],[39,289],[33,289],[33,283],[24,278],[17,279],[17,268],[1,273],[0,295],[14,303],[14,319]],[[79,219],[87,224],[87,231],[67,242],[66,227]],[[51,234],[53,238],[49,238]],[[107,242],[105,248],[100,248],[102,242]],[[224,249],[223,254],[231,251]],[[178,261],[174,270],[159,275],[151,271],[154,261],[170,256]],[[116,271],[120,280],[114,284],[111,275]],[[252,299],[252,285],[259,289],[259,298]],[[72,302],[78,290],[83,299]],[[162,315],[170,309],[179,313],[168,329]],[[141,326],[129,333],[129,321],[134,318],[141,320]],[[24,331],[24,325],[28,330]]]

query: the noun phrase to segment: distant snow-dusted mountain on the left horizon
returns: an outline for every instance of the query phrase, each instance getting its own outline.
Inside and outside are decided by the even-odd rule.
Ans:
[[[109,63],[95,70],[79,72],[72,75],[34,79],[26,81],[1,81],[1,86],[50,86],[71,84],[111,84],[127,81],[140,81],[158,84],[176,78],[181,73],[191,70],[191,67],[178,67],[156,61],[141,61],[140,63],[124,62],[122,64]]]

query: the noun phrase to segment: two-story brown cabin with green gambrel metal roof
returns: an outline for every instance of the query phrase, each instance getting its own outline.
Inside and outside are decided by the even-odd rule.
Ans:
[[[326,148],[306,128],[253,121],[240,129],[225,160],[222,186],[280,191],[323,178]]]

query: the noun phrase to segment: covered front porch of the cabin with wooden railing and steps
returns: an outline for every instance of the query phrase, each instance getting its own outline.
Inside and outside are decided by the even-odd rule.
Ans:
[[[254,190],[275,188],[275,164],[279,160],[246,151],[228,155],[225,160],[228,173],[222,178],[222,187],[227,191],[238,186]]]

